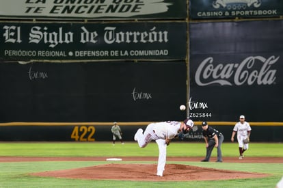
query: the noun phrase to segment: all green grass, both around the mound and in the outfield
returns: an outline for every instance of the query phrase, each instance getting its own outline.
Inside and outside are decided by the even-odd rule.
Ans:
[[[224,157],[237,157],[236,143],[224,143]],[[168,157],[203,157],[204,143],[172,142],[167,148]],[[281,157],[283,144],[251,143],[247,151],[249,157]],[[158,156],[157,144],[139,148],[137,143],[111,142],[1,142],[0,157],[126,157]],[[213,150],[213,157],[216,150]],[[71,180],[66,178],[42,178],[30,176],[31,172],[65,170],[109,163],[107,161],[42,161],[0,163],[0,187],[275,187],[283,176],[283,163],[201,163],[168,161],[200,167],[223,170],[268,173],[267,178],[238,180],[191,181],[191,182],[138,182],[124,180]],[[116,163],[116,162],[111,162]],[[118,163],[157,163],[157,161],[120,161]],[[188,174],[189,176],[189,174]]]

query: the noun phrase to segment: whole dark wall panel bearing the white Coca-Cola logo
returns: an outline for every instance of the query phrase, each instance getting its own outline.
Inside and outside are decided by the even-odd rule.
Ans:
[[[190,24],[191,118],[283,122],[282,23]]]

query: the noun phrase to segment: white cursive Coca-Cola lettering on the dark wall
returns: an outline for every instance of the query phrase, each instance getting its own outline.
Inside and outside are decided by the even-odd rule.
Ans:
[[[274,83],[277,70],[271,66],[278,62],[280,56],[268,59],[262,56],[251,56],[239,64],[213,64],[213,57],[207,57],[196,70],[196,83],[200,86],[218,83],[220,85],[271,85]]]

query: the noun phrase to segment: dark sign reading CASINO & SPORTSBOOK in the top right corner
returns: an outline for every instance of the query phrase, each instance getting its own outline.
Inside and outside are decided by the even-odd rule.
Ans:
[[[266,18],[283,15],[280,0],[189,1],[190,19]]]

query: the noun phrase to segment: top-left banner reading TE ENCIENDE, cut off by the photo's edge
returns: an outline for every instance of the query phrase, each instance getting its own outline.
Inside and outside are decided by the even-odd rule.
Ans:
[[[183,0],[1,0],[0,17],[37,19],[185,19]]]

